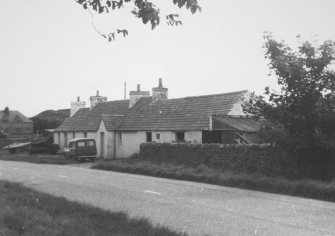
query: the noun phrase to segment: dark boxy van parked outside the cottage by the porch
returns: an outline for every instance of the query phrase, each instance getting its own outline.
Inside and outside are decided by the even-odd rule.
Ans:
[[[72,139],[69,142],[69,147],[64,148],[64,156],[77,161],[85,159],[94,161],[97,156],[96,142],[90,138]]]

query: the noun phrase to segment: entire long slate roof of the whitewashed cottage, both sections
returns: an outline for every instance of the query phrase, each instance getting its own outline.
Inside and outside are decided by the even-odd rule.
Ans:
[[[100,103],[80,109],[56,131],[96,131],[103,120],[109,131],[208,130],[209,116],[228,115],[248,91],[152,101],[142,97],[128,108],[129,100]]]

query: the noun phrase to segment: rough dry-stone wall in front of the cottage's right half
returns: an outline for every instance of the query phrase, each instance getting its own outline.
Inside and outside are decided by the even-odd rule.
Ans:
[[[220,171],[268,176],[286,175],[279,150],[270,145],[143,143],[139,158]]]

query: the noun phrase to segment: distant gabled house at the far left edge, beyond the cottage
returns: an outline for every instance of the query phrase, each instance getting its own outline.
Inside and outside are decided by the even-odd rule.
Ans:
[[[33,122],[19,111],[6,108],[0,111],[1,136],[8,138],[24,138],[33,134]]]

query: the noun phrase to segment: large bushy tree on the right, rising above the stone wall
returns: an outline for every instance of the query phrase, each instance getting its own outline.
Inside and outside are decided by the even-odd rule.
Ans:
[[[319,177],[335,150],[335,43],[302,41],[293,50],[271,34],[264,39],[265,58],[279,89],[253,94],[244,110],[264,118],[268,141],[307,163]]]

